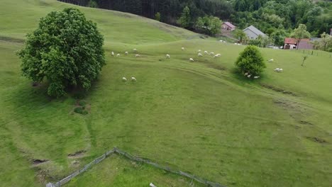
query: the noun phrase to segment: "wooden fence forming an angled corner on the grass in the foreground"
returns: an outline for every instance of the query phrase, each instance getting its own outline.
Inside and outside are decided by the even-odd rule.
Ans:
[[[206,186],[211,186],[211,187],[226,187],[226,186],[221,185],[220,183],[214,183],[214,182],[211,182],[211,181],[207,181],[205,179],[200,178],[199,176],[195,176],[193,174],[188,174],[188,173],[186,173],[184,171],[179,171],[179,170],[171,169],[170,167],[167,167],[167,166],[161,166],[161,165],[156,164],[154,162],[150,162],[148,159],[142,159],[140,157],[135,157],[135,156],[133,156],[131,154],[128,154],[127,152],[124,152],[121,149],[118,149],[116,147],[114,147],[114,149],[106,152],[105,154],[101,155],[100,157],[94,159],[94,161],[92,161],[89,164],[85,165],[82,169],[74,171],[74,173],[70,174],[69,176],[65,177],[64,179],[61,179],[60,181],[57,181],[56,183],[48,183],[48,184],[46,184],[46,187],[60,187],[60,186],[65,185],[65,183],[67,183],[70,180],[72,180],[75,176],[78,176],[79,174],[84,173],[90,167],[92,167],[95,164],[98,164],[102,160],[106,159],[106,157],[108,157],[110,154],[119,154],[119,155],[122,155],[123,157],[126,157],[127,159],[132,160],[132,161],[149,164],[150,166],[154,166],[155,168],[168,171],[168,172],[170,172],[172,174],[177,174],[177,175],[180,175],[180,176],[187,177],[188,179],[192,179],[192,180],[197,181],[199,183],[202,183],[202,184],[204,184]]]

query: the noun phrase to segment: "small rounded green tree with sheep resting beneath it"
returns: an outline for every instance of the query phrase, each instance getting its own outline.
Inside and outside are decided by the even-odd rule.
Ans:
[[[240,56],[238,57],[238,60],[236,60],[235,64],[242,73],[249,73],[253,75],[260,74],[263,69],[266,68],[262,54],[258,48],[253,45],[245,47],[245,50],[240,52]]]

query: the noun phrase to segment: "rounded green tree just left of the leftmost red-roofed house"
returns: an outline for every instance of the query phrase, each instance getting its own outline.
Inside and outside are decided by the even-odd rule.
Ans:
[[[197,30],[213,36],[221,32],[221,20],[214,16],[199,17],[195,27]]]

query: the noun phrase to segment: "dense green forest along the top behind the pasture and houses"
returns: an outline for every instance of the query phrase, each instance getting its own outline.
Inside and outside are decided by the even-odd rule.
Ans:
[[[194,30],[199,17],[216,16],[238,28],[254,25],[267,35],[290,33],[299,24],[306,25],[312,37],[332,28],[332,1],[312,0],[60,0],[80,6],[92,6],[135,13],[179,25],[179,17],[189,7]]]

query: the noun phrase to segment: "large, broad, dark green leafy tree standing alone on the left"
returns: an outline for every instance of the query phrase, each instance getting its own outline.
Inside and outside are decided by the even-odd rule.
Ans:
[[[53,11],[40,19],[18,52],[23,76],[46,81],[50,96],[63,96],[69,87],[87,90],[105,64],[103,43],[96,24],[79,10]]]

